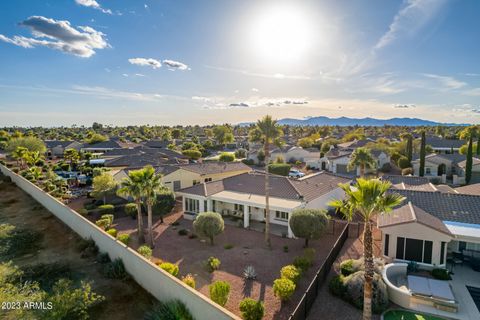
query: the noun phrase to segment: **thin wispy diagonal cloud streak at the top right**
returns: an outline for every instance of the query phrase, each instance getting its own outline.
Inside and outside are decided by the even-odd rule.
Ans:
[[[378,40],[374,49],[388,46],[395,39],[412,35],[428,23],[445,5],[446,0],[408,0],[395,15],[388,31]]]

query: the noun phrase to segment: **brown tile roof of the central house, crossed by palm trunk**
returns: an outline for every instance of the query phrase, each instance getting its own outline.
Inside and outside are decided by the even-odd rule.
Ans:
[[[330,173],[320,172],[302,180],[293,180],[283,176],[270,176],[270,196],[283,199],[311,201],[336,188],[339,183],[349,182]],[[259,172],[244,173],[182,189],[180,192],[209,196],[220,191],[233,191],[247,194],[265,195],[265,175]]]

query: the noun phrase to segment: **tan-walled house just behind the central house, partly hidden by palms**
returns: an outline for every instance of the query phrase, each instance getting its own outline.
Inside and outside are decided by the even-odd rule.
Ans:
[[[143,166],[138,168],[141,167]],[[153,167],[157,170],[157,173],[163,175],[163,184],[172,191],[178,191],[204,182],[225,179],[252,170],[242,162],[219,161],[189,164],[163,163]],[[132,169],[134,168],[117,170],[113,173],[115,180],[121,181],[127,177],[128,171]]]

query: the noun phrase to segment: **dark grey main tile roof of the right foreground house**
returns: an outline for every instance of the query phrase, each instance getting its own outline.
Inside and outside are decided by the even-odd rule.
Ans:
[[[418,190],[394,190],[442,221],[480,224],[480,196]]]

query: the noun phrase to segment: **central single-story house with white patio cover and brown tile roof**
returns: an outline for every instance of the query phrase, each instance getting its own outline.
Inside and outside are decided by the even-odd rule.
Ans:
[[[344,196],[340,183],[350,180],[327,172],[319,172],[297,180],[283,176],[270,177],[270,223],[293,237],[289,227],[291,212],[297,208],[327,209],[328,202]],[[194,219],[204,211],[234,216],[243,227],[262,223],[265,211],[265,175],[249,172],[181,189],[183,212],[186,219]]]

